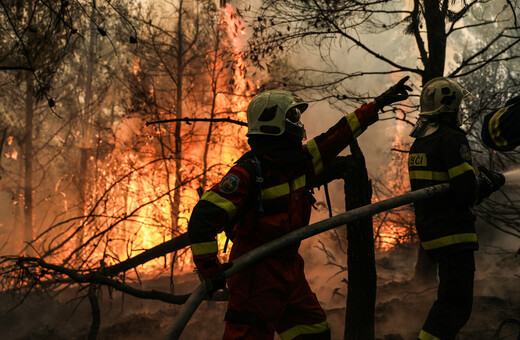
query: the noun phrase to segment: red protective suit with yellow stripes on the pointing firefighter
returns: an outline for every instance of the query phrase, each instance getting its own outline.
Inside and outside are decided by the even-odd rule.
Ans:
[[[204,193],[188,225],[193,258],[202,276],[221,268],[215,236],[230,223],[234,225],[230,261],[308,225],[312,197],[307,183],[378,120],[377,111],[369,103],[347,114],[309,140],[301,150],[307,157],[298,163],[268,155],[257,155],[255,161],[246,157]],[[253,167],[257,168],[251,171]],[[298,247],[273,254],[228,279],[226,319],[244,326],[230,330],[227,324],[225,338],[267,339],[277,331],[282,339],[292,339],[328,330],[325,314],[305,280]],[[263,331],[251,333],[255,327]]]

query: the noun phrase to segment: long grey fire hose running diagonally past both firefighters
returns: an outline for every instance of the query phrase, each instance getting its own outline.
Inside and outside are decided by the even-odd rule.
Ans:
[[[224,273],[226,278],[237,272],[257,263],[268,257],[273,252],[282,250],[290,244],[300,242],[311,236],[320,234],[324,231],[334,229],[345,225],[346,223],[354,222],[365,217],[378,214],[380,212],[394,209],[413,202],[424,201],[428,198],[440,196],[449,190],[449,184],[443,183],[434,185],[428,188],[415,190],[406,194],[392,197],[384,201],[368,204],[356,209],[347,211],[346,213],[313,223],[305,228],[292,231],[280,238],[272,240],[260,247],[250,251],[249,253],[239,257],[233,261],[233,265]],[[165,339],[177,340],[181,336],[186,324],[192,317],[195,310],[204,300],[207,295],[207,289],[204,282],[202,282],[197,289],[190,295],[188,301],[183,305],[179,314],[175,318],[173,324],[168,329]]]

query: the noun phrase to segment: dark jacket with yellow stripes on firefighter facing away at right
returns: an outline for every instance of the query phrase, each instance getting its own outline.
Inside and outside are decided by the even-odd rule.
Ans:
[[[456,249],[477,249],[475,171],[464,132],[441,123],[439,129],[417,138],[408,158],[412,190],[449,182],[452,193],[416,202],[415,222],[422,247],[434,259]]]

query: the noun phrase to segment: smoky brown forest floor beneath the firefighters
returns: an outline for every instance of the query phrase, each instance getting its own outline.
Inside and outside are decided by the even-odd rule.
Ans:
[[[302,247],[307,262],[307,277],[324,307],[332,327],[332,338],[343,339],[345,317],[344,272],[339,266],[323,264],[312,253],[314,245]],[[311,254],[312,253],[312,254]],[[520,336],[520,256],[514,251],[482,249],[476,253],[477,272],[473,313],[458,340],[517,340]],[[321,264],[320,264],[321,261]],[[376,338],[414,340],[435,300],[436,283],[417,286],[413,275],[415,250],[394,250],[377,255],[378,290]],[[343,281],[342,281],[343,280]],[[188,293],[198,284],[193,274],[176,280],[176,294]],[[169,279],[142,282],[143,289],[168,290]],[[101,329],[98,339],[162,339],[181,306],[156,301],[141,301],[109,293],[100,297]],[[0,338],[87,339],[91,315],[86,291],[66,291],[58,297],[46,294],[29,296],[10,310],[17,299],[0,295]],[[225,302],[204,302],[186,327],[181,339],[220,339],[224,329]],[[500,328],[500,331],[499,331]],[[275,339],[278,339],[276,337]]]

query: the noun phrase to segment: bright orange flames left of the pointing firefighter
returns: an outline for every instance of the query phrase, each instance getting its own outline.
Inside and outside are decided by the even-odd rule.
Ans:
[[[227,43],[229,45],[224,47],[231,50],[233,55],[231,72],[233,93],[239,95],[226,95],[223,94],[226,91],[219,90],[215,101],[214,118],[229,116],[229,113],[219,114],[219,112],[234,112],[236,116],[233,116],[233,119],[245,121],[247,95],[250,94],[249,89],[253,86],[245,77],[245,60],[240,53],[243,26],[229,4],[221,10],[221,16],[222,23],[225,23],[224,32],[229,41]],[[211,57],[209,54],[208,58]],[[218,61],[218,64],[217,67],[221,67],[223,62]],[[139,65],[140,60],[136,58],[131,71],[137,80],[141,81]],[[229,78],[225,83],[229,86],[227,85]],[[150,94],[153,95],[153,92]],[[163,114],[167,116],[167,112]],[[197,116],[197,118],[208,118],[208,116]],[[172,232],[174,221],[172,207],[175,203],[173,190],[176,182],[174,161],[160,157],[161,145],[157,142],[158,137],[161,137],[159,128],[156,126],[143,128],[143,123],[136,118],[126,119],[120,124],[115,133],[119,138],[115,149],[103,164],[97,164],[98,172],[95,177],[100,180],[89,184],[92,199],[87,204],[86,215],[91,213],[96,215],[96,218],[86,219],[83,222],[85,228],[81,239],[85,242],[96,235],[104,234],[100,237],[102,242],[99,242],[95,251],[84,253],[84,257],[88,256],[91,263],[104,259],[106,265],[115,264],[186,232],[191,210],[199,199],[197,189],[203,173],[201,159],[206,145],[204,138],[183,142],[184,156],[180,172],[184,185],[181,189],[178,224]],[[244,129],[242,126],[232,124],[213,127],[207,163],[209,172],[204,190],[218,181],[245,151]],[[207,133],[208,125],[207,123],[194,123],[190,126],[183,124],[182,131],[183,136],[190,133],[202,135]],[[162,133],[164,134],[164,131]],[[143,135],[150,137],[139,139]],[[162,135],[162,137],[173,136]],[[100,210],[102,214],[99,213]],[[103,216],[97,216],[98,214]],[[225,240],[223,233],[218,236],[220,249],[223,249]],[[193,269],[190,252],[184,249],[176,255],[177,270]],[[227,257],[227,254],[222,256]],[[150,261],[139,267],[139,275],[158,275],[170,264],[170,257]]]

